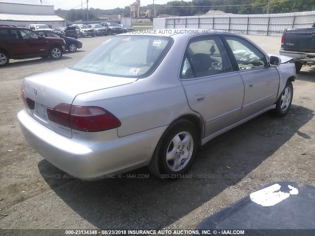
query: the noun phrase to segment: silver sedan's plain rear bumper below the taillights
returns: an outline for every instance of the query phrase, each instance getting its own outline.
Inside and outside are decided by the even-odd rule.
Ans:
[[[84,180],[94,180],[108,174],[119,174],[146,166],[167,127],[162,126],[122,138],[113,129],[98,132],[96,136],[103,133],[100,140],[75,140],[41,125],[25,110],[20,111],[17,117],[23,135],[32,148],[59,169]]]

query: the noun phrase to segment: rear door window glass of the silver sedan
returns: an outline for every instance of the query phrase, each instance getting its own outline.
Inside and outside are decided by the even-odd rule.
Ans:
[[[231,63],[219,36],[193,39],[185,52],[180,76],[191,79],[232,71]]]

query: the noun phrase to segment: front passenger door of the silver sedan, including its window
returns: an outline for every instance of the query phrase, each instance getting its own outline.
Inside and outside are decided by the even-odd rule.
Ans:
[[[269,66],[266,56],[252,43],[236,35],[224,36],[224,39],[245,86],[241,120],[276,102],[280,77],[276,67]]]

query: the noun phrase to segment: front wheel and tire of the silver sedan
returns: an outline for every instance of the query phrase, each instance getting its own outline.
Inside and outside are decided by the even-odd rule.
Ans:
[[[288,81],[276,103],[276,108],[274,109],[274,115],[276,117],[283,117],[288,113],[291,107],[292,98],[293,85],[291,81]]]

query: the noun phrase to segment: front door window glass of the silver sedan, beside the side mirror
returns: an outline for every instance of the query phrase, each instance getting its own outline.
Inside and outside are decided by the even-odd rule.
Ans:
[[[268,67],[264,54],[245,39],[225,36],[240,70]]]

